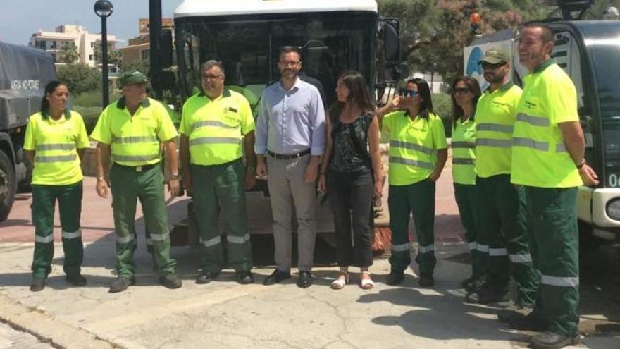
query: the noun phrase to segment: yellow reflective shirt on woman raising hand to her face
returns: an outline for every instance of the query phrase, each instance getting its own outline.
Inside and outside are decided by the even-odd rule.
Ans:
[[[438,149],[447,148],[439,116],[411,120],[407,111],[392,111],[383,117],[382,127],[390,133],[390,185],[418,183],[435,171]]]

